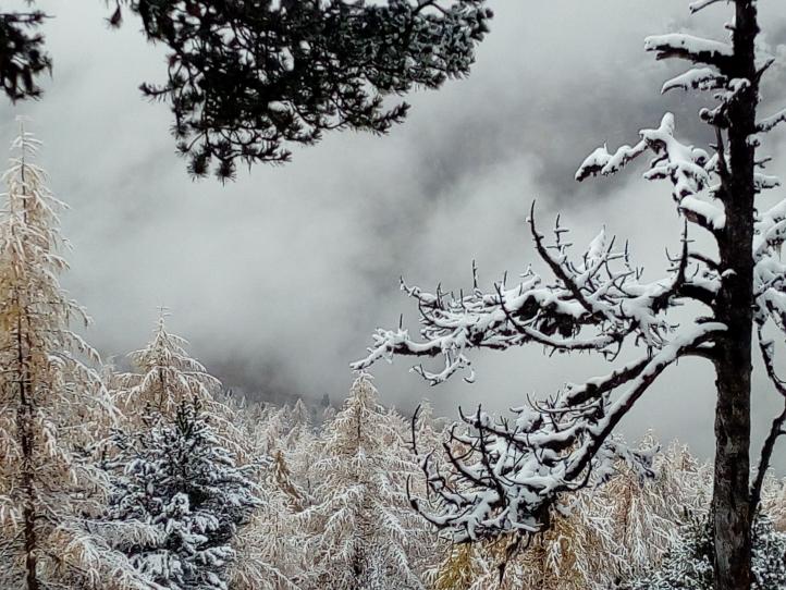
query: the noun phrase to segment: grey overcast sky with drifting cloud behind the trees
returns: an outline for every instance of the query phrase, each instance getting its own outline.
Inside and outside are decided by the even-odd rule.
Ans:
[[[674,29],[721,37],[727,17],[723,4],[689,17],[686,0],[492,1],[496,16],[472,74],[409,96],[409,119],[389,136],[329,135],[295,149],[291,164],[259,165],[221,186],[189,180],[167,107],[140,98],[138,84],[160,81],[165,65],[137,23],[109,30],[100,0],[39,3],[54,15],[46,26],[53,77],[41,101],[1,107],[0,139],[11,139],[21,113],[46,144],[41,162],[72,208],[64,283],[95,319],[89,340],[105,356],[123,355],[146,342],[165,305],[172,328],[226,385],[333,400],[376,327],[395,325],[401,312],[416,327],[400,275],[457,290],[471,284],[472,259],[487,286],[524,270],[532,259],[524,220],[535,198],[544,222],[563,212],[578,243],[603,223],[630,238],[636,260],[656,276],[664,247],[678,244],[668,187],[640,180],[640,169],[580,185],[573,174],[594,147],[635,142],[665,110],[685,137],[707,138],[695,98],[660,96],[676,70],[646,54],[642,39]],[[760,7],[763,40],[786,54],[786,3]],[[783,67],[765,98],[786,100]],[[786,164],[778,168],[786,175]],[[385,403],[410,408],[429,397],[455,416],[458,405],[504,410],[606,370],[539,349],[476,359],[474,385],[430,389],[406,359],[374,373]],[[680,365],[625,431],[652,427],[710,453],[713,378],[699,361]],[[763,432],[778,401],[756,384]]]

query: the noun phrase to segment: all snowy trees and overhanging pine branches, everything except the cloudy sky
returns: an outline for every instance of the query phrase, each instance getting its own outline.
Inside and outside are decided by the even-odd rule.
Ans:
[[[760,42],[758,3],[698,0],[690,11],[720,5],[733,13],[724,41],[644,41],[659,60],[689,63],[662,91],[704,95],[699,120],[714,143],[686,143],[665,113],[634,146],[600,147],[576,172],[613,175],[652,157],[644,179],[665,181],[683,222],[666,275],[644,280],[605,230],[574,256],[560,219],[546,238],[532,206],[545,272],[527,267],[488,292],[476,273],[458,295],[402,284],[419,335],[379,329],[346,401],[321,414],[230,395],[163,308],[127,369],[103,364],[81,331],[89,316],[60,284],[65,206],[20,124],[0,208],[0,587],[786,587],[786,481],[770,469],[786,409],[751,452],[756,348],[786,401],[776,359],[786,200],[764,198],[781,181],[761,150],[786,110],[760,113],[775,57]],[[126,13],[168,48],[167,82],[143,93],[169,103],[191,174],[222,181],[238,162],[285,161],[324,131],[384,133],[407,110],[388,99],[469,72],[492,16],[483,0],[118,0],[109,23]],[[40,96],[51,69],[45,20],[0,13],[0,79],[14,101]],[[512,416],[478,407],[457,423],[428,405],[412,417],[384,407],[366,372],[397,355],[439,357],[416,372],[471,381],[472,349],[527,344],[590,353],[610,369]],[[716,376],[712,465],[617,433],[686,357]]]

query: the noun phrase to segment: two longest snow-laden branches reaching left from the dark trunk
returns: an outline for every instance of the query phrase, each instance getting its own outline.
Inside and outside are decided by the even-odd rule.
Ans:
[[[476,278],[471,292],[458,296],[403,285],[420,309],[421,337],[401,327],[380,329],[368,356],[353,366],[364,370],[395,355],[441,357],[440,371],[415,368],[438,384],[471,369],[467,355],[474,348],[535,343],[549,352],[588,351],[613,359],[626,343],[641,347],[637,360],[531,402],[515,410],[512,421],[481,408],[463,416],[464,427],[455,427],[444,445],[451,474],[440,472],[430,457],[422,460],[435,504],[416,502],[457,541],[538,532],[548,527],[562,492],[605,479],[621,460],[647,475],[649,455],[614,440],[613,429],[661,372],[681,357],[708,356],[725,330],[712,321],[680,330],[666,318],[678,299],[711,303],[720,285],[716,271],[690,256],[687,225],[681,254],[672,259],[667,276],[653,283],[640,280],[627,248],[615,248],[604,231],[570,257],[558,219],[551,242],[538,231],[533,210],[529,229],[550,279],[529,268],[518,284],[503,280],[483,292]]]

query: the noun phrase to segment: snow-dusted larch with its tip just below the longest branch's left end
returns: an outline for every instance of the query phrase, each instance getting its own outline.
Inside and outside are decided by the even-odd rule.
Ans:
[[[315,504],[300,513],[314,534],[310,588],[394,590],[421,588],[413,552],[428,524],[415,514],[406,477],[417,471],[400,432],[366,376],[324,433],[323,458],[314,466]]]

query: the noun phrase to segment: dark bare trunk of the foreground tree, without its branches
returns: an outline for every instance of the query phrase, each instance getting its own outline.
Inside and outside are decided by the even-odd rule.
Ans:
[[[753,159],[748,137],[756,131],[757,72],[753,41],[759,32],[752,0],[736,1],[735,56],[729,77],[747,78],[751,87],[728,109],[730,170],[721,196],[726,225],[719,236],[726,269],[715,311],[728,327],[717,345],[715,477],[713,517],[715,589],[749,590],[751,585],[750,374],[753,310]]]

